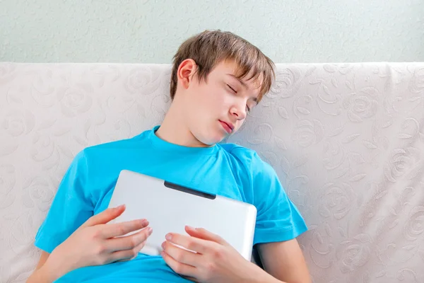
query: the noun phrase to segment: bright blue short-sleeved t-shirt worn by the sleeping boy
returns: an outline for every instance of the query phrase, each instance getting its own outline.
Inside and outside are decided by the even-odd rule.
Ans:
[[[275,171],[255,151],[236,144],[203,148],[170,144],[155,135],[158,127],[77,154],[61,180],[35,246],[52,253],[90,216],[107,209],[123,169],[254,204],[254,244],[287,241],[307,230]],[[73,270],[57,282],[189,281],[170,269],[160,256],[139,254],[127,262]]]

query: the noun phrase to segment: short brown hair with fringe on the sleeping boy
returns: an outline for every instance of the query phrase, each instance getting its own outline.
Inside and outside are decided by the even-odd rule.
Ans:
[[[199,81],[206,81],[208,74],[216,64],[224,60],[233,60],[237,64],[235,76],[242,79],[250,70],[252,76],[247,80],[261,79],[258,102],[269,91],[275,78],[274,64],[258,47],[242,37],[220,30],[205,30],[182,43],[174,56],[172,67],[170,95],[174,99],[177,92],[177,71],[179,64],[185,59],[193,59],[198,66]]]

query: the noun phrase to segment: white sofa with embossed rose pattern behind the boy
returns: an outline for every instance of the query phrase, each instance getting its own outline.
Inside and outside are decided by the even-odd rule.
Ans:
[[[424,63],[277,64],[229,141],[271,163],[317,283],[424,282]],[[167,64],[0,63],[0,282],[24,282],[71,159],[158,125]]]

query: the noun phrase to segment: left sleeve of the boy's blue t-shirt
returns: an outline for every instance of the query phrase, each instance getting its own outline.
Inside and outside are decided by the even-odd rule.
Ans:
[[[73,159],[61,180],[52,206],[45,221],[35,236],[35,246],[52,253],[78,229],[90,216],[93,216],[93,201],[86,188],[87,162],[84,151]]]

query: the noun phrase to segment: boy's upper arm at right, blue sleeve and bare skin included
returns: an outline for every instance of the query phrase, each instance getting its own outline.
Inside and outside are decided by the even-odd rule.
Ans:
[[[254,176],[252,202],[258,209],[254,243],[264,270],[290,283],[311,282],[296,240],[307,231],[305,220],[268,163],[256,156],[251,170]]]

